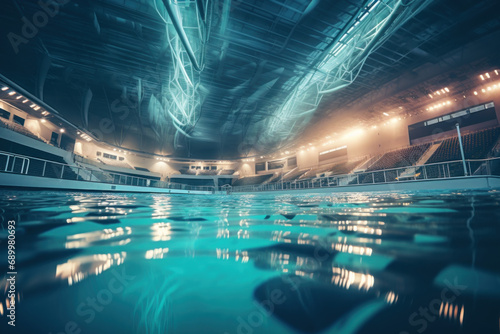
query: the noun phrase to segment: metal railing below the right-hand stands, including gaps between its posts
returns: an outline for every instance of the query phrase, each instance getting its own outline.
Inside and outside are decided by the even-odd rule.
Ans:
[[[463,161],[447,161],[419,166],[405,166],[375,171],[364,171],[343,175],[330,175],[303,180],[294,180],[263,185],[233,187],[235,192],[259,192],[294,189],[316,189],[339,187],[346,185],[363,185],[378,183],[393,183],[408,180],[433,180],[464,175],[500,175],[500,158],[466,160],[467,174],[464,172]]]

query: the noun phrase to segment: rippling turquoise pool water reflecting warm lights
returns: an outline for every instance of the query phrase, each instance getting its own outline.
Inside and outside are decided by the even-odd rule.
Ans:
[[[499,192],[0,191],[0,207],[1,333],[500,332]]]

